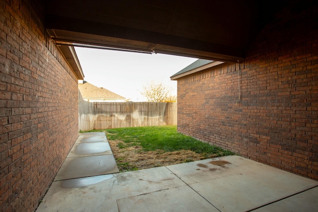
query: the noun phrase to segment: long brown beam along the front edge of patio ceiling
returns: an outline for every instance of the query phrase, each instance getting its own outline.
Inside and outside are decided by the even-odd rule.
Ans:
[[[243,58],[243,53],[239,49],[173,36],[160,36],[161,38],[158,38],[158,40],[154,36],[152,38],[157,42],[152,42],[153,39],[144,39],[145,36],[143,35],[140,35],[139,39],[136,35],[133,38],[128,36],[128,39],[126,39],[119,38],[120,36],[111,37],[61,29],[47,29],[47,31],[55,43],[61,46],[79,46],[148,54],[161,53],[224,62],[237,62]]]

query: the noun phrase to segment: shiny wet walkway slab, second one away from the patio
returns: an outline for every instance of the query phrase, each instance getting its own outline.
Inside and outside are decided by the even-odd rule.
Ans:
[[[79,156],[92,156],[92,155],[103,155],[112,154],[109,143],[104,142],[90,142],[90,143],[76,143],[71,149],[68,157],[79,157]]]

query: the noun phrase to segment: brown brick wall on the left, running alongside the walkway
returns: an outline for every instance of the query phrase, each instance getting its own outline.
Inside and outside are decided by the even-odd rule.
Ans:
[[[34,211],[78,137],[77,78],[30,2],[0,1],[3,212]]]

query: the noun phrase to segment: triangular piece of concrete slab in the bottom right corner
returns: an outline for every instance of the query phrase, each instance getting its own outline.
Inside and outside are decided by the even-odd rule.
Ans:
[[[318,187],[264,206],[254,212],[281,212],[282,209],[286,212],[317,212]]]

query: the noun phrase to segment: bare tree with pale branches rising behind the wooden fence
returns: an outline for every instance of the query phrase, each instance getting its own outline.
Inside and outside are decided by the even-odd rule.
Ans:
[[[143,91],[140,92],[150,102],[165,102],[175,99],[171,95],[172,88],[162,83],[151,82],[143,87]]]

